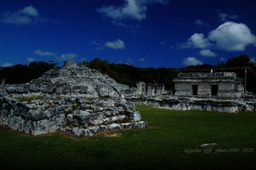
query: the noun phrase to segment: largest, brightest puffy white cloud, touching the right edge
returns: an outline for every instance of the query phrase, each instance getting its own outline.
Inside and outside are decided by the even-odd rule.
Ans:
[[[246,45],[256,44],[256,37],[245,24],[225,22],[211,31],[208,39],[216,42],[218,49],[237,51],[244,50]]]

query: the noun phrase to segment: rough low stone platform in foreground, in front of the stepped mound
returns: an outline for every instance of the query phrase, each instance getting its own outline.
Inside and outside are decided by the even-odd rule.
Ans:
[[[78,137],[104,130],[143,128],[140,112],[135,105],[111,99],[32,100],[19,102],[15,98],[0,98],[0,125],[33,135],[61,129]]]

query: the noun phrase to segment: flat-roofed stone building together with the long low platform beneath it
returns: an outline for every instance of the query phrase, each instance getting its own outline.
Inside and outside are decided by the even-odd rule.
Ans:
[[[179,73],[175,95],[130,97],[136,104],[175,110],[238,112],[256,110],[256,95],[244,92],[243,79],[233,72]],[[161,89],[161,88],[160,88]]]

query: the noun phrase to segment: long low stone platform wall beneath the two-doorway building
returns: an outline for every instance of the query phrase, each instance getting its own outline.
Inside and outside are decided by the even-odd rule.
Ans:
[[[213,112],[238,112],[254,111],[256,101],[243,100],[220,100],[218,98],[146,98],[132,97],[126,98],[129,102],[136,104],[153,105],[154,107],[174,110],[198,110]]]

